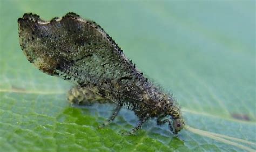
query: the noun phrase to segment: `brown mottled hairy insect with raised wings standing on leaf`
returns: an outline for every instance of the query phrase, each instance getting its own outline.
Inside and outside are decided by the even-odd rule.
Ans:
[[[167,123],[173,134],[184,128],[180,108],[140,72],[114,40],[95,22],[76,13],[45,21],[25,13],[18,18],[19,43],[26,58],[44,73],[76,84],[69,91],[72,103],[116,103],[116,118],[122,107],[133,110],[139,122],[135,133],[150,118]]]

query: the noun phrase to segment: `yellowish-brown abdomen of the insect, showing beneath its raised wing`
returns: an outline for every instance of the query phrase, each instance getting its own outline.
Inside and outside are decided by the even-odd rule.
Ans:
[[[99,94],[84,87],[75,86],[68,92],[69,102],[77,105],[91,105],[92,103],[112,103],[111,100],[103,98]]]

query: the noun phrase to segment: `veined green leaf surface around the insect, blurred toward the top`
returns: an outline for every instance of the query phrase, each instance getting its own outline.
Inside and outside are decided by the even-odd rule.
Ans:
[[[256,149],[254,1],[0,1],[1,151],[241,151]],[[67,81],[26,60],[17,19],[76,12],[91,19],[157,85],[172,92],[188,126],[232,136],[238,148],[183,130],[147,122],[136,125],[123,109],[109,127],[97,129],[112,105],[72,107]],[[247,149],[248,150],[248,149]]]

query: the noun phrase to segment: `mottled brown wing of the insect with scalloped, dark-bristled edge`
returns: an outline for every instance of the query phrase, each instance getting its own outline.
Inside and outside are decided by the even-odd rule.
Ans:
[[[39,70],[68,79],[106,98],[140,100],[147,79],[95,22],[75,13],[46,22],[37,15],[18,19],[28,60]]]

